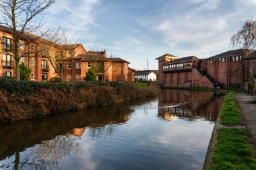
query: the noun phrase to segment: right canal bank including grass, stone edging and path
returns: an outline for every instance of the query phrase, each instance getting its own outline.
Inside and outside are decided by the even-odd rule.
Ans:
[[[227,94],[214,126],[203,169],[256,168],[255,108],[255,96]]]

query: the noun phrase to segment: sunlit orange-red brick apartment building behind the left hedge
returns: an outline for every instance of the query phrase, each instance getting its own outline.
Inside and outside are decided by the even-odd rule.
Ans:
[[[11,50],[13,48],[12,30],[0,26],[0,38],[2,42],[0,77],[15,77],[15,61]],[[30,81],[49,81],[51,77],[61,76],[55,71],[54,63],[46,57],[46,53],[49,56],[49,53],[53,51],[57,55],[63,56],[58,67],[61,67],[64,81],[84,81],[90,68],[94,69],[98,81],[117,81],[118,77],[123,77],[122,81],[134,80],[134,71],[128,67],[130,62],[121,58],[107,58],[106,50],[100,52],[86,51],[82,44],[59,46],[51,42],[53,46],[49,46],[49,41],[26,32],[22,34],[20,44],[22,44],[20,45],[20,55],[23,55],[20,62],[24,62],[32,69]]]

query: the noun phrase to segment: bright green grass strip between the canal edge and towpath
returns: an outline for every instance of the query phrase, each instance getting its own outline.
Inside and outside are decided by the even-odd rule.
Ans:
[[[218,130],[217,144],[210,169],[256,169],[255,150],[241,124],[241,113],[233,93],[228,93],[222,105],[220,119],[232,128]]]

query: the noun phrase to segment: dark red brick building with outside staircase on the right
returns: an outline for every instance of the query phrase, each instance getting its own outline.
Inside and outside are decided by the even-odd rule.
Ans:
[[[179,58],[165,54],[158,60],[158,83],[163,87],[244,88],[256,76],[256,52],[245,57],[245,50],[229,50],[210,58]]]

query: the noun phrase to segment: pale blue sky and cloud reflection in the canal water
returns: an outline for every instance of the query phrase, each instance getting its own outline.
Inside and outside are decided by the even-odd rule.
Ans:
[[[201,169],[214,124],[203,119],[187,121],[174,119],[165,122],[158,118],[158,101],[136,105],[134,113],[125,124],[106,125],[103,136],[92,137],[92,129],[86,128],[84,134],[76,138],[68,136],[66,147],[55,146],[63,154],[65,163],[60,169]],[[114,128],[113,133],[108,128]],[[107,134],[107,136],[105,135]],[[70,143],[68,143],[70,142]],[[59,145],[62,142],[58,143]],[[38,144],[21,153],[37,151]],[[70,146],[79,148],[79,154],[65,150]],[[53,148],[56,149],[56,148]],[[38,150],[40,151],[40,150]],[[36,153],[30,156],[36,157]],[[45,156],[45,155],[44,155]],[[53,156],[51,156],[53,157]],[[13,162],[10,157],[0,163]],[[12,169],[12,168],[11,168]]]

